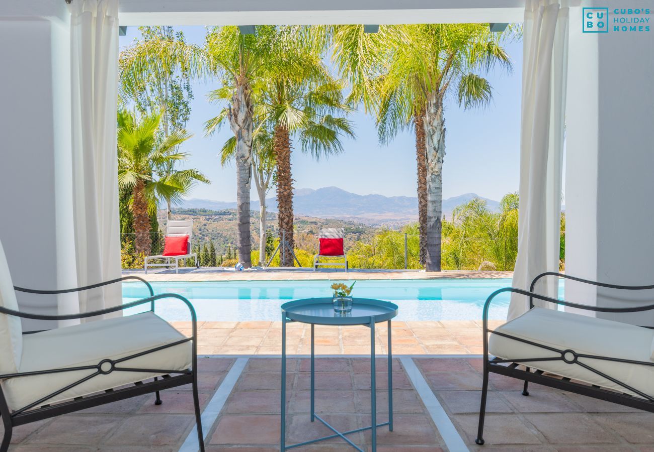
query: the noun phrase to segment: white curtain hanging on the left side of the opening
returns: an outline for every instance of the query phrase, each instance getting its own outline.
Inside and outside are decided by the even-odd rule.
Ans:
[[[73,197],[78,284],[120,278],[118,0],[71,3]],[[80,312],[122,303],[120,284],[80,293]]]

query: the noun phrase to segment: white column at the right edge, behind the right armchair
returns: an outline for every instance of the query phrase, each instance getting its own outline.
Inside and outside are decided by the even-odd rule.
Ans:
[[[570,16],[566,273],[654,284],[654,27],[613,31],[611,13],[624,3],[595,3],[610,8],[608,33],[581,33],[581,8]],[[647,7],[630,7],[639,5]],[[653,291],[615,294],[566,283],[566,299],[598,306],[654,299]],[[654,325],[654,314],[621,319]]]

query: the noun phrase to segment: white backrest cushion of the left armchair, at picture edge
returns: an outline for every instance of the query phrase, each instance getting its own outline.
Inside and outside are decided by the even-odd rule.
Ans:
[[[5,250],[0,243],[0,306],[18,311],[16,292],[11,282]],[[0,314],[0,373],[18,372],[23,354],[23,327],[19,317]]]

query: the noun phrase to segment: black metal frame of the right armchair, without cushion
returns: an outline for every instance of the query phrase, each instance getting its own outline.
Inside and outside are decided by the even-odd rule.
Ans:
[[[606,287],[608,289],[619,289],[619,290],[654,289],[654,285],[638,285],[638,286],[615,285],[615,284],[600,283],[590,280],[583,280],[581,278],[576,278],[574,276],[569,276],[557,272],[545,272],[534,278],[534,280],[530,285],[529,291],[525,291],[523,289],[517,289],[515,287],[504,287],[504,289],[498,289],[494,291],[492,294],[490,294],[490,296],[486,300],[486,303],[484,304],[484,310],[483,310],[483,354],[484,354],[483,383],[481,388],[481,407],[479,408],[479,429],[477,430],[477,439],[475,440],[475,443],[479,445],[484,444],[484,440],[483,440],[484,418],[486,415],[486,398],[488,395],[489,374],[491,372],[494,374],[500,374],[500,375],[508,376],[511,378],[517,378],[525,381],[525,386],[523,387],[523,393],[522,393],[525,396],[529,395],[528,384],[530,381],[532,381],[534,383],[538,383],[539,385],[553,387],[555,389],[562,389],[570,393],[576,393],[576,394],[597,398],[600,400],[606,400],[608,402],[613,402],[616,404],[629,406],[632,408],[638,408],[639,410],[644,410],[647,412],[654,412],[654,396],[647,395],[642,391],[638,391],[638,389],[630,387],[627,383],[624,383],[623,381],[619,381],[616,378],[606,375],[603,372],[596,370],[595,368],[589,366],[586,363],[581,363],[580,361],[578,361],[578,359],[591,358],[591,359],[599,359],[604,361],[612,361],[615,363],[641,364],[643,366],[654,366],[653,361],[634,361],[632,359],[620,359],[616,357],[605,357],[605,356],[598,356],[598,355],[589,355],[585,353],[577,353],[572,349],[565,349],[565,350],[557,349],[555,347],[549,347],[543,344],[538,344],[536,342],[525,340],[523,338],[511,336],[504,332],[489,330],[488,316],[489,316],[490,302],[492,302],[492,300],[497,295],[505,292],[518,293],[520,295],[525,295],[526,297],[529,297],[529,309],[534,308],[534,299],[538,299],[549,303],[568,306],[570,308],[577,308],[581,310],[594,311],[594,312],[608,312],[613,314],[626,313],[626,312],[644,312],[644,311],[654,310],[654,304],[648,304],[645,306],[634,306],[631,308],[602,308],[598,306],[588,306],[585,304],[577,304],[577,303],[567,302],[564,300],[553,299],[550,297],[545,297],[544,295],[540,295],[538,293],[534,293],[534,288],[536,287],[536,283],[545,276],[557,276],[559,278],[564,278],[566,280],[572,280],[576,282],[596,285],[598,287]],[[650,328],[650,327],[643,327],[643,328]],[[534,357],[534,358],[519,359],[519,360],[500,359],[497,357],[492,357],[492,359],[489,359],[489,344],[488,344],[489,333],[498,334],[499,336],[516,340],[518,342],[523,342],[531,346],[536,346],[549,351],[554,351],[556,353],[559,353],[560,356]],[[564,363],[570,364],[571,366],[578,365],[585,368],[586,370],[593,372],[594,374],[597,374],[598,376],[601,376],[602,378],[606,378],[609,381],[612,381],[616,385],[623,387],[626,391],[630,391],[631,393],[637,394],[638,396],[634,396],[628,393],[621,393],[619,391],[613,391],[610,389],[604,389],[597,385],[577,383],[576,381],[572,381],[570,378],[566,378],[566,377],[557,378],[556,376],[546,375],[542,370],[534,370],[532,372],[532,370],[526,366],[523,370],[523,368],[519,367],[521,366],[521,364],[519,364],[517,361],[519,361],[520,363],[535,363],[538,361],[563,361]]]

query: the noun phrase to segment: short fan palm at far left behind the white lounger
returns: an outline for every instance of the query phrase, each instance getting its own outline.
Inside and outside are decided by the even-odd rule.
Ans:
[[[173,131],[168,137],[157,135],[161,115],[141,118],[127,110],[118,111],[118,186],[131,190],[131,210],[137,253],[150,254],[150,214],[156,212],[164,199],[180,201],[196,182],[209,180],[196,169],[177,170],[161,174],[171,162],[183,161],[187,153],[177,146],[192,135]]]

